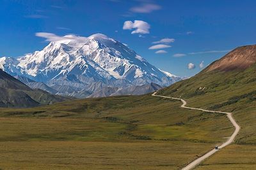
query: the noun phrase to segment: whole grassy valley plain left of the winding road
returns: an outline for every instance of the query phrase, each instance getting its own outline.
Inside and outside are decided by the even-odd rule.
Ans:
[[[143,95],[1,109],[3,169],[180,169],[234,128],[223,114]]]

